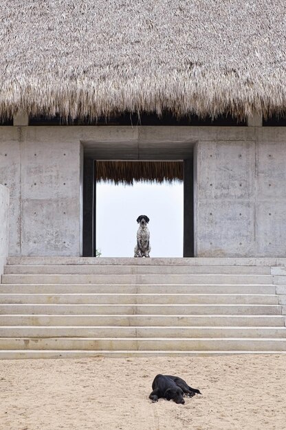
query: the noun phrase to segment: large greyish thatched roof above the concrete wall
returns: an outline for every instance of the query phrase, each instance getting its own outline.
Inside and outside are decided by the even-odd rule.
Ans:
[[[0,115],[285,111],[284,0],[2,0]]]

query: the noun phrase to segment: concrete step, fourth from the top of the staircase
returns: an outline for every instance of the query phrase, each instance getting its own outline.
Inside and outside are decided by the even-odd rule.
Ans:
[[[276,294],[274,284],[0,284],[2,294]]]

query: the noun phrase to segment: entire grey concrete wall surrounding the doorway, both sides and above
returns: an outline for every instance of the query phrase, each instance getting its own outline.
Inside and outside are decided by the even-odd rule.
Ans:
[[[83,146],[99,142],[127,159],[196,146],[196,256],[285,256],[286,130],[254,126],[0,127],[10,256],[81,255]]]

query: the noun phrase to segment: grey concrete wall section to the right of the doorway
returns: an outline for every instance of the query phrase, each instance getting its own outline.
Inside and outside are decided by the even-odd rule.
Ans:
[[[285,257],[286,139],[281,132],[283,142],[270,128],[261,128],[252,141],[197,144],[197,256]]]

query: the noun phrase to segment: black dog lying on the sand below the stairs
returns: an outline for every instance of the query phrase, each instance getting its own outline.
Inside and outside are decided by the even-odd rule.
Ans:
[[[179,376],[172,375],[157,375],[154,378],[152,384],[153,392],[151,392],[149,398],[153,400],[153,403],[158,401],[158,398],[166,398],[167,400],[174,400],[175,403],[181,403],[184,405],[185,400],[184,394],[187,397],[195,396],[195,394],[201,394],[199,389],[190,387],[184,379]]]

